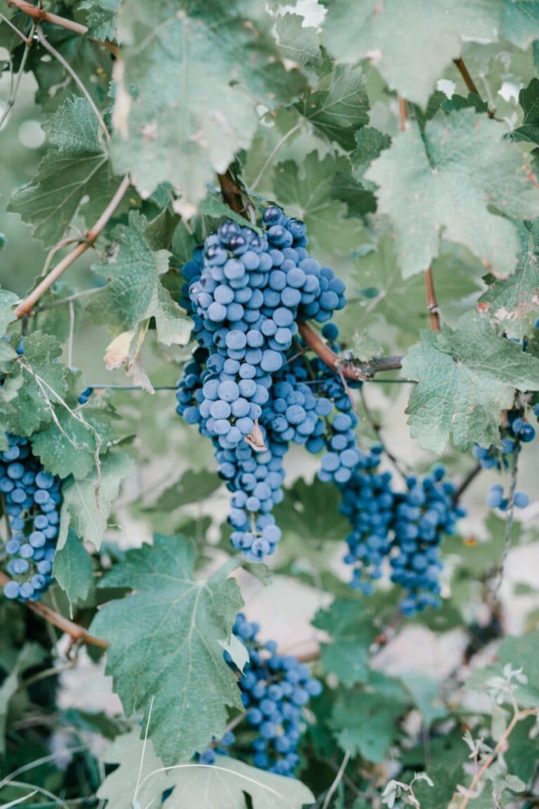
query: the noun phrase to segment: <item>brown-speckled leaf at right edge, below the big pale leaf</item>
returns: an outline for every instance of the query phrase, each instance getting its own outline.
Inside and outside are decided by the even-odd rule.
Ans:
[[[516,271],[505,279],[492,279],[478,301],[481,311],[503,325],[507,337],[522,340],[539,316],[539,222],[522,226],[522,252]]]

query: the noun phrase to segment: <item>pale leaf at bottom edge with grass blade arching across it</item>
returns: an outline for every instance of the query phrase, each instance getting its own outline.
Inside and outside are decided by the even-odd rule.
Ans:
[[[301,781],[255,769],[233,758],[218,756],[212,767],[185,762],[177,769],[163,772],[162,761],[149,739],[145,751],[137,732],[117,736],[105,751],[103,761],[120,765],[99,787],[98,798],[107,800],[108,807],[132,809],[161,801],[162,794],[172,792],[172,806],[204,806],[212,809],[247,809],[245,793],[251,798],[252,809],[301,809],[314,801],[314,796]],[[139,769],[143,765],[139,777]],[[155,773],[150,776],[150,773]],[[137,803],[134,801],[137,785]]]

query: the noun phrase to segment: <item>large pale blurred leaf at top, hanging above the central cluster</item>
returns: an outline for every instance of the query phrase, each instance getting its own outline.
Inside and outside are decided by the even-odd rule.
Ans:
[[[246,19],[246,6],[259,19]],[[257,104],[301,94],[305,78],[284,68],[271,25],[265,9],[239,0],[181,13],[175,0],[121,4],[113,157],[143,197],[169,181],[191,215],[213,172],[251,145]]]

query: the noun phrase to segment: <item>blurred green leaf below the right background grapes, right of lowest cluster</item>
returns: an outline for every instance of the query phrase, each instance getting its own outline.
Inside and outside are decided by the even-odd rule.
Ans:
[[[377,631],[361,603],[335,599],[331,607],[314,616],[313,625],[331,635],[331,643],[322,643],[322,666],[349,688],[368,680],[368,649]]]

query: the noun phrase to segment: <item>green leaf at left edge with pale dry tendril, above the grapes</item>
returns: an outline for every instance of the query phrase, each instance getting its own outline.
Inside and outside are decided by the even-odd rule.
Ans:
[[[18,343],[19,337],[15,337],[12,345]],[[6,417],[6,429],[11,433],[32,435],[52,420],[51,404],[57,404],[54,394],[63,398],[67,390],[69,371],[56,362],[60,355],[56,337],[32,332],[24,339],[24,354],[6,366],[3,392],[14,405]]]

